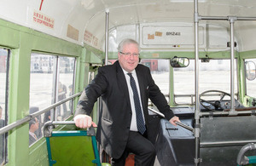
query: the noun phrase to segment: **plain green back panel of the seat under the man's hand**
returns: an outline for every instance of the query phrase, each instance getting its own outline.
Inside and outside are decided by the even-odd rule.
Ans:
[[[54,166],[96,165],[90,136],[50,137],[49,142]]]

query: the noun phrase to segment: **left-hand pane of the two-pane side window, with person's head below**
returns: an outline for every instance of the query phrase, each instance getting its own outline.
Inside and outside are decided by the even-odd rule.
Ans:
[[[55,71],[56,56],[49,54],[31,55],[30,74],[30,110],[29,113],[38,112],[55,102]],[[51,111],[53,112],[53,111]],[[45,114],[49,114],[47,112]],[[38,115],[29,123],[29,143],[36,142],[43,135],[44,123],[49,120],[49,116]]]

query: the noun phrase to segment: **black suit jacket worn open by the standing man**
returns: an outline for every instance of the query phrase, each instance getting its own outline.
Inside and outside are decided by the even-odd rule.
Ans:
[[[147,66],[136,67],[143,113],[148,126],[148,98],[162,112],[166,119],[174,115],[164,94],[154,83]],[[96,139],[109,156],[121,157],[125,151],[131,125],[131,103],[125,74],[116,61],[111,66],[102,66],[95,79],[84,89],[79,98],[75,115],[90,115],[97,98],[102,96],[102,111],[99,114]]]

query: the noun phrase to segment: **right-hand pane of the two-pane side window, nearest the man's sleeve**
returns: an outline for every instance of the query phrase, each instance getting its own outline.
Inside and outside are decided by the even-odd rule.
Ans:
[[[57,101],[64,100],[73,95],[74,58],[59,57],[59,82],[57,91]],[[64,120],[72,114],[73,100],[57,106],[57,120]]]

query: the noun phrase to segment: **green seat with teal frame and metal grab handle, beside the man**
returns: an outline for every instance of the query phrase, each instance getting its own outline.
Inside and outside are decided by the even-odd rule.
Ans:
[[[49,166],[101,166],[110,165],[101,163],[96,145],[95,129],[76,130],[74,125],[67,125],[59,131],[49,131],[47,123],[44,127]],[[60,124],[60,122],[57,122]],[[63,122],[63,124],[67,122]],[[72,123],[68,123],[72,124]]]

